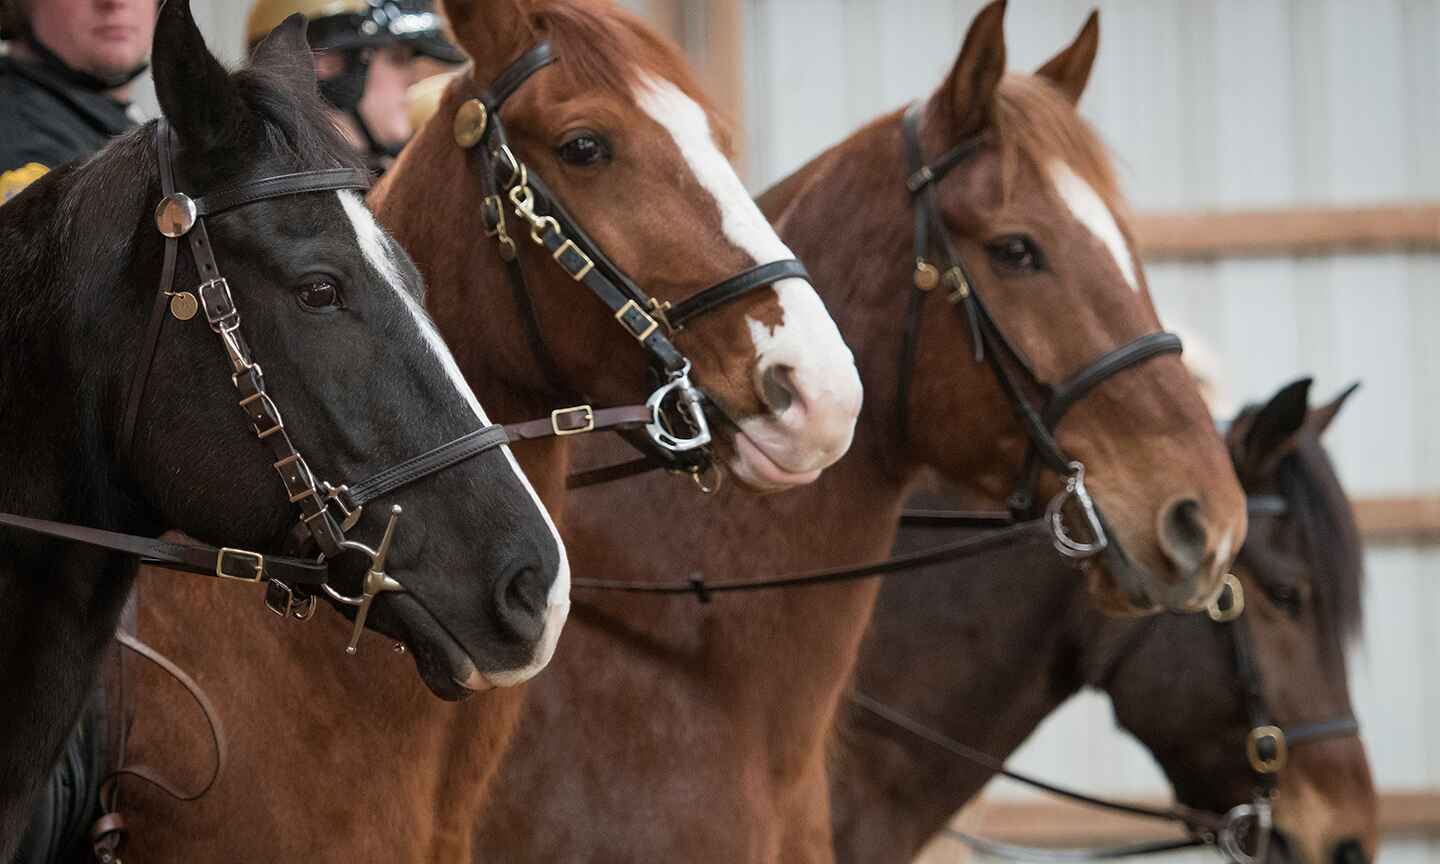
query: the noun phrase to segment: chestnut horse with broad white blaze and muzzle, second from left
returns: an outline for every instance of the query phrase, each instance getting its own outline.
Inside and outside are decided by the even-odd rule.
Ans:
[[[789,252],[724,160],[723,127],[678,52],[635,19],[611,4],[549,0],[451,1],[445,10],[474,62],[373,193],[376,213],[415,256],[429,310],[497,418],[634,402],[647,387],[652,338],[638,341],[556,252],[531,242],[523,207],[507,196],[505,232],[523,274],[518,287],[511,282],[500,229],[485,222],[495,216],[487,202],[497,193],[490,148],[468,135],[495,134],[490,115],[498,114],[531,183],[543,177],[550,197],[605,252],[612,266],[596,258],[598,271],[624,271],[671,302],[671,314],[711,282]],[[541,43],[554,62],[520,78],[491,111],[491,82],[517,58],[536,58]],[[485,99],[485,114],[475,99]],[[552,232],[541,236],[553,239]],[[570,226],[564,232],[579,238]],[[733,485],[809,481],[848,446],[858,374],[805,281],[762,284],[668,334],[693,361],[696,384],[723,410],[716,438],[742,481]],[[567,451],[557,438],[516,448],[547,501],[563,494]],[[698,497],[688,481],[670,482]],[[204,645],[187,638],[202,625],[213,629],[202,624],[213,603],[194,589],[183,603],[147,606],[141,634],[203,684],[216,684],[212,697],[232,726],[230,765],[193,805],[137,788],[132,848],[157,860],[468,860],[471,827],[518,714],[518,688],[459,707],[436,704],[399,674],[403,657],[357,665],[298,644],[279,621],[261,638],[253,621],[233,625],[249,634],[242,662],[223,654],[225,638]],[[204,726],[184,701],[171,683],[143,677],[132,750],[180,776],[204,776],[212,759]],[[284,723],[233,727],[235,717],[256,711],[275,711]],[[301,812],[308,824],[294,818]]]

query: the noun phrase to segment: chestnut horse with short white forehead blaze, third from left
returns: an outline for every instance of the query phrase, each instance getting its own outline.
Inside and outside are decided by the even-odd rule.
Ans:
[[[926,102],[924,153],[984,135],[937,189],[945,222],[971,291],[1047,380],[1061,380],[1158,321],[1129,245],[1103,239],[1125,236],[1122,216],[1102,204],[1119,199],[1073,108],[1093,45],[1041,76],[1002,79],[1001,12],[981,14]],[[768,498],[721,490],[701,503],[662,480],[577,491],[563,517],[577,572],[658,582],[874,562],[926,469],[976,503],[1004,500],[1025,433],[945,292],[919,320],[901,399],[916,271],[907,174],[901,115],[891,114],[762,199],[855,347],[865,408],[851,452],[812,487]],[[1112,582],[1097,566],[1099,596],[1149,608],[1162,595],[1191,606],[1215,593],[1243,540],[1244,498],[1178,359],[1106,380],[1060,438],[1086,461],[1115,537],[1155,592],[1136,599],[1115,588],[1133,573]],[[1057,488],[1045,480],[1044,494]],[[1187,500],[1176,531],[1162,514]],[[530,688],[474,861],[828,860],[825,744],[876,590],[832,585],[706,605],[577,590],[564,644]]]

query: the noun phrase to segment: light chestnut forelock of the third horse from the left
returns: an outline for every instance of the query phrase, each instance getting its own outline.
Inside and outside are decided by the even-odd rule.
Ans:
[[[1129,207],[1120,194],[1110,151],[1054,85],[1037,75],[1005,75],[995,89],[992,118],[1005,200],[1009,200],[1022,163],[1047,176],[1045,166],[1060,160],[1094,189],[1125,230]]]

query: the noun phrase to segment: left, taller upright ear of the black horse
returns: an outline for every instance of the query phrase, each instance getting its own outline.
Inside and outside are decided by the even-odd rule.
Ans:
[[[245,102],[204,45],[190,0],[167,0],[160,9],[151,55],[156,96],[180,141],[209,150],[235,140],[245,122]]]

